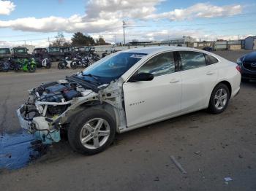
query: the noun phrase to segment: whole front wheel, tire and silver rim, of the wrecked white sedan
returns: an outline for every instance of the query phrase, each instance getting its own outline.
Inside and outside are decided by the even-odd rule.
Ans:
[[[103,109],[86,109],[78,114],[68,128],[72,149],[84,155],[102,152],[113,142],[116,121]]]

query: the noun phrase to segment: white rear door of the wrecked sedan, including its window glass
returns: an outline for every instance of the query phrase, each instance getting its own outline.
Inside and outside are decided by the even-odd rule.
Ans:
[[[178,51],[182,79],[181,111],[189,112],[205,107],[217,81],[214,64],[207,64],[205,54]]]

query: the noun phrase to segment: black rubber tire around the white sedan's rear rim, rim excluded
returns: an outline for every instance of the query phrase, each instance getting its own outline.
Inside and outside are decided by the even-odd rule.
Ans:
[[[220,89],[224,89],[227,92],[227,101],[222,109],[217,109],[217,106],[215,106],[215,95]],[[222,83],[218,84],[216,87],[214,87],[214,90],[211,93],[211,98],[208,105],[208,111],[211,112],[212,114],[222,113],[227,108],[229,100],[230,100],[230,90],[228,89],[227,85]]]

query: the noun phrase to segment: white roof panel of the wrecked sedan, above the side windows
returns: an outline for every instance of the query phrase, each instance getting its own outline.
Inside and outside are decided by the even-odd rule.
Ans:
[[[189,47],[175,47],[175,46],[165,46],[165,47],[142,47],[142,48],[132,48],[129,50],[124,50],[122,52],[136,52],[136,53],[145,53],[145,54],[151,54],[156,52],[163,52],[168,50],[197,50],[195,48],[189,48]],[[198,51],[198,50],[197,50]]]

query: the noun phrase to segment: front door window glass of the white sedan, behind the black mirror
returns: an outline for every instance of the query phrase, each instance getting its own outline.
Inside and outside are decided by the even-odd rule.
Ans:
[[[138,69],[138,74],[150,73],[154,74],[154,77],[173,72],[175,72],[173,52],[165,52],[157,55]]]

